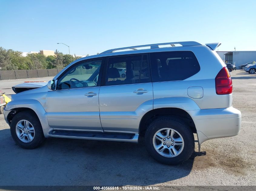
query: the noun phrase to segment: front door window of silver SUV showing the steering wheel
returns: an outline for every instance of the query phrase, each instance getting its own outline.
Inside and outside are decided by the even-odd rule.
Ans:
[[[94,87],[98,83],[98,75],[102,60],[81,62],[69,68],[58,79],[57,89]]]

